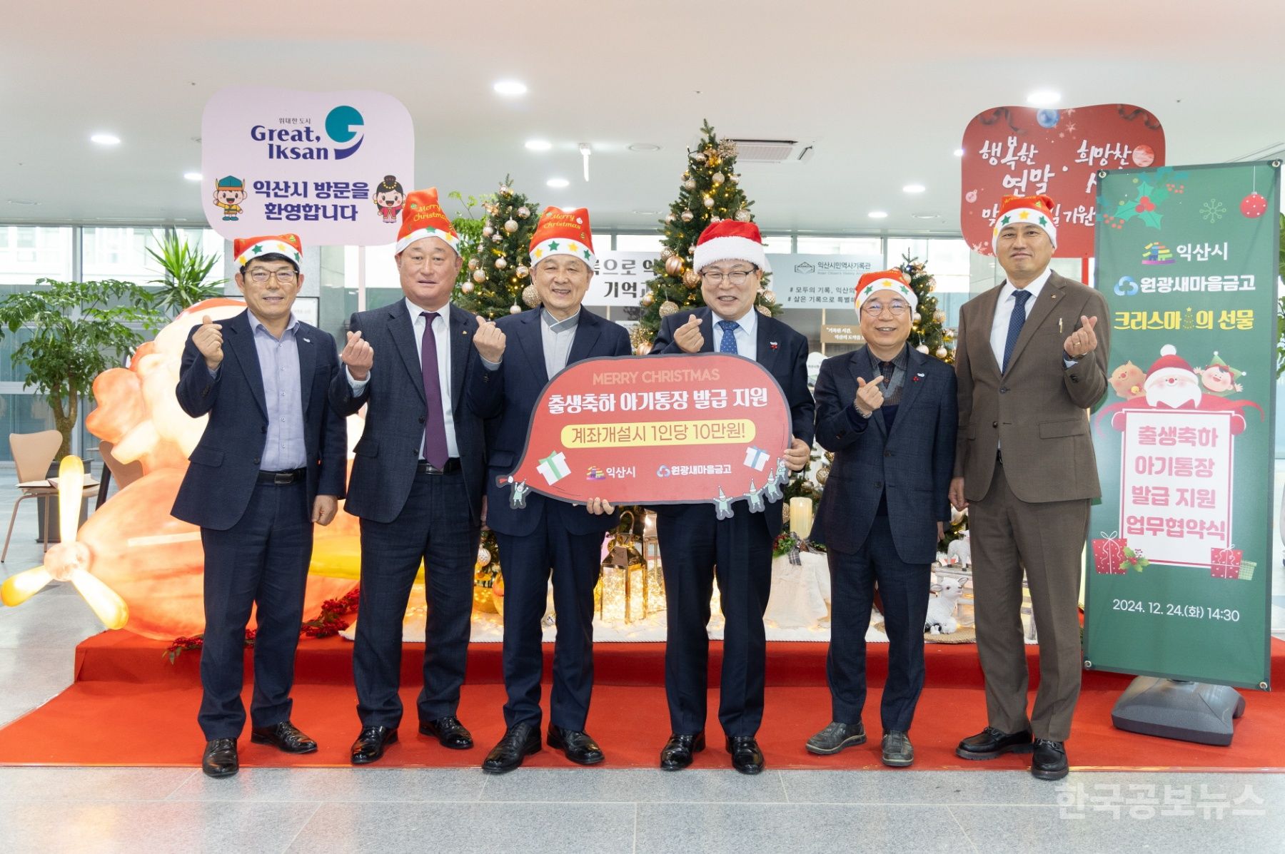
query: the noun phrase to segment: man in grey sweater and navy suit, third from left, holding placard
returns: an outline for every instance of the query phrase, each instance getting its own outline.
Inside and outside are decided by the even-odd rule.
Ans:
[[[603,320],[581,302],[594,277],[594,236],[589,211],[546,208],[531,236],[531,277],[538,308],[478,318],[473,340],[486,371],[469,387],[469,405],[493,428],[487,479],[487,525],[504,564],[504,706],[508,729],[482,763],[504,773],[540,750],[541,650],[550,571],[558,640],[549,699],[549,746],[581,765],[603,762],[603,750],[585,732],[594,688],[594,586],[600,571],[603,534],[618,516],[600,498],[585,506],[529,493],[524,509],[509,506],[499,478],[513,471],[527,447],[527,428],[551,376],[573,362],[628,356],[625,327]]]

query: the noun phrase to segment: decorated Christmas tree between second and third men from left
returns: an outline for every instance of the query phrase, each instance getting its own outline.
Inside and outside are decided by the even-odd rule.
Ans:
[[[466,277],[459,285],[456,304],[464,311],[495,320],[538,304],[527,266],[531,235],[540,220],[536,204],[514,193],[505,176],[500,191],[481,200],[486,223],[477,252],[468,259]]]

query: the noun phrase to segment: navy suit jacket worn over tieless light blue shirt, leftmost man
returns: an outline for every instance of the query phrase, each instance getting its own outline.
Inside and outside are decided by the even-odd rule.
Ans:
[[[179,406],[194,419],[209,415],[209,424],[188,457],[190,465],[170,511],[175,519],[215,530],[227,530],[245,514],[267,439],[263,372],[249,312],[222,321],[222,327],[224,361],[216,376],[209,375],[206,357],[191,342],[199,326],[188,333],[182,349],[175,389]],[[311,514],[317,494],[343,498],[348,439],[343,416],[326,399],[330,380],[339,370],[334,338],[301,321],[294,340],[299,348]]]

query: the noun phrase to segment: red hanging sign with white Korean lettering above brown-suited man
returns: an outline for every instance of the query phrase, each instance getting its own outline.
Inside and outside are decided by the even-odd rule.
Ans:
[[[1164,164],[1164,130],[1132,104],[1070,109],[996,107],[964,128],[960,229],[989,256],[991,227],[1005,195],[1047,194],[1056,203],[1059,258],[1094,254],[1097,171]],[[1140,199],[1139,213],[1150,202]]]

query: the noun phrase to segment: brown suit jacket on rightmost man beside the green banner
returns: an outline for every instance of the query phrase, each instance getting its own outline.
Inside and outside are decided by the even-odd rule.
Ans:
[[[1001,375],[991,349],[1000,288],[1002,283],[960,309],[955,476],[964,478],[969,501],[984,498],[1002,444],[1009,485],[1022,501],[1097,498],[1101,488],[1086,410],[1106,390],[1112,327],[1106,301],[1092,288],[1052,274]],[[1061,345],[1081,326],[1081,315],[1097,317],[1097,349],[1065,367]]]

